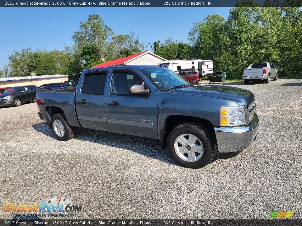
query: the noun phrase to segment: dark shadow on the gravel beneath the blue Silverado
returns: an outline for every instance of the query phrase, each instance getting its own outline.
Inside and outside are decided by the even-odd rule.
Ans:
[[[37,132],[41,132],[44,135],[51,137],[52,139],[56,139],[53,135],[53,132],[46,128],[45,123],[39,123],[33,125],[33,129]],[[99,130],[85,129],[85,128],[77,128],[74,131],[75,137],[73,139],[82,140],[87,142],[93,142],[101,145],[111,146],[115,148],[123,148],[127,150],[131,150],[138,154],[144,155],[149,158],[157,159],[162,162],[166,162],[169,164],[177,165],[167,148],[165,150],[161,150],[160,142],[157,139],[145,138],[145,137],[136,137],[132,135],[125,135],[113,132],[105,132]],[[214,153],[214,157],[212,161],[213,163],[217,159],[219,159],[218,152]]]

